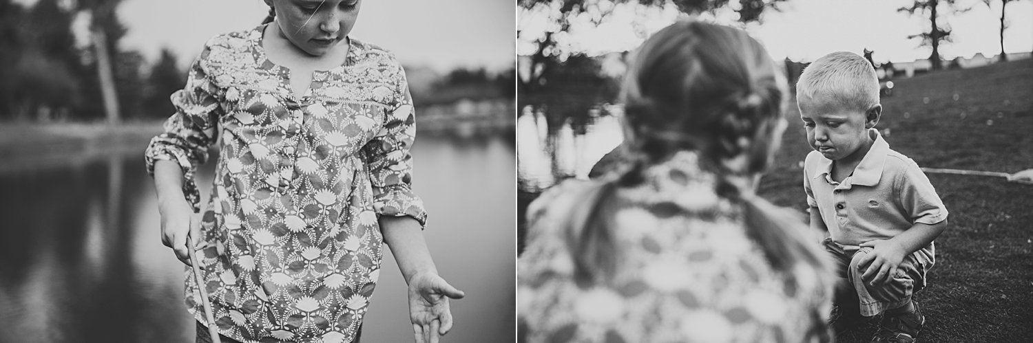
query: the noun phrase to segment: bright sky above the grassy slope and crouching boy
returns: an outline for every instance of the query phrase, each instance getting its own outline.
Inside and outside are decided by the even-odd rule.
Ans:
[[[897,11],[910,3],[909,0],[789,0],[780,6],[781,11],[769,10],[761,24],[750,24],[746,29],[776,60],[788,57],[810,62],[832,52],[862,54],[865,48],[874,50],[872,58],[877,63],[927,59],[932,49],[918,47],[918,39],[908,39],[908,35],[922,32],[928,21]],[[981,0],[958,0],[957,3],[961,8],[970,9],[941,15],[953,29],[953,42],[942,45],[941,56],[953,59],[971,58],[977,53],[988,57],[999,54],[1000,0],[992,0],[989,7]],[[570,32],[558,40],[562,40],[564,46],[588,55],[632,49],[644,37],[677,20],[678,11],[674,7],[643,10],[618,5],[614,15],[599,27],[589,24],[590,15],[575,21]],[[722,10],[706,16],[733,23],[737,15],[731,10]],[[1006,19],[1009,27],[1004,35],[1005,52],[1033,50],[1033,0],[1009,2]],[[544,32],[546,22],[540,15],[525,11],[518,26],[525,31],[518,41],[518,53],[528,55],[534,46],[528,40]]]

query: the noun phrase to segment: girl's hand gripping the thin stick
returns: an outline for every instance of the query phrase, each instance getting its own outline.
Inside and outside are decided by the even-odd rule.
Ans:
[[[159,202],[158,212],[161,213],[161,243],[173,248],[180,262],[193,266],[187,249],[196,247],[200,242],[200,226],[190,204],[179,197],[168,202]],[[189,246],[187,239],[190,239]]]

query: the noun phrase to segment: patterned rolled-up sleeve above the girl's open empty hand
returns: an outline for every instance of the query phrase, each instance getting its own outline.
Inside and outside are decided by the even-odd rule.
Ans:
[[[363,150],[370,170],[376,213],[408,215],[426,226],[424,201],[412,192],[412,155],[409,149],[416,136],[415,111],[405,71],[398,68],[384,127]]]

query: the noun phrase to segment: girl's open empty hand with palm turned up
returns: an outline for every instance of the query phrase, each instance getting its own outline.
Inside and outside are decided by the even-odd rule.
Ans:
[[[416,343],[438,343],[452,325],[448,298],[465,296],[435,273],[413,275],[409,279],[409,320]]]

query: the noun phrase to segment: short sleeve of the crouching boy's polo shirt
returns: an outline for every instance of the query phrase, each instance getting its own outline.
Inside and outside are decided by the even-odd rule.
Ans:
[[[929,177],[918,165],[910,162],[907,169],[897,177],[897,199],[901,207],[910,215],[912,224],[934,225],[947,218],[947,208],[933,188]]]

